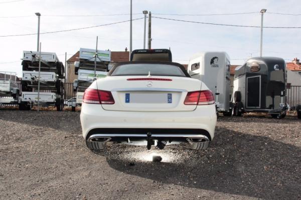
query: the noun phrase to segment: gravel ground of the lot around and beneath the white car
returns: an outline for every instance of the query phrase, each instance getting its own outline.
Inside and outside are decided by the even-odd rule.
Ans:
[[[219,117],[204,151],[90,151],[79,112],[0,110],[0,198],[301,199],[300,122]]]

